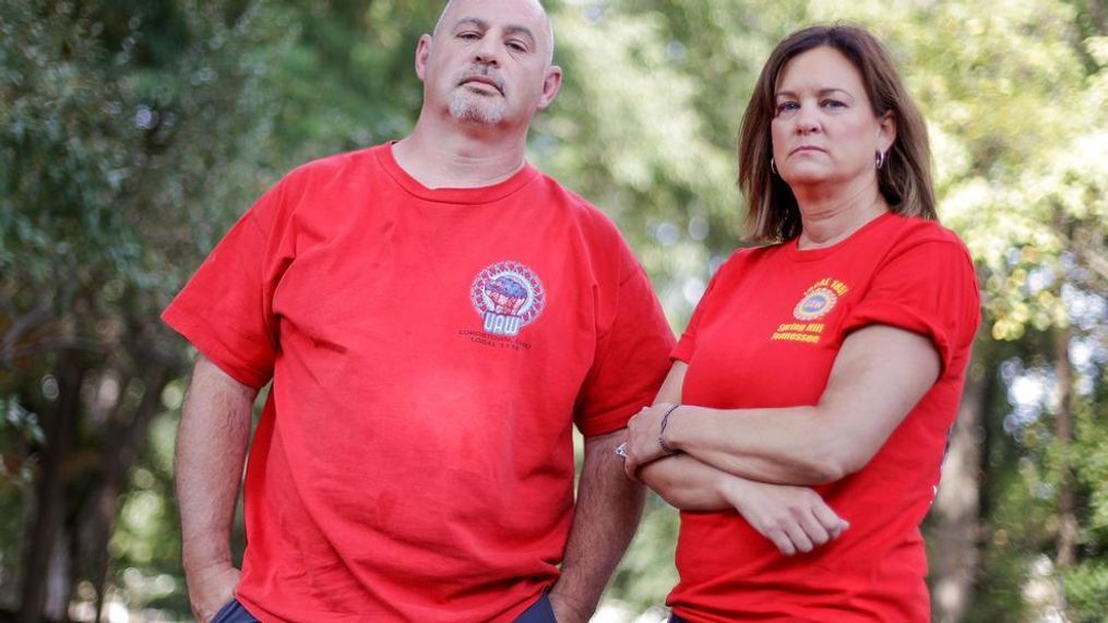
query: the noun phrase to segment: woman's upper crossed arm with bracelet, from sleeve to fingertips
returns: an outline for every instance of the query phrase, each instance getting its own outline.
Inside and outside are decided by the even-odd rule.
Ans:
[[[680,450],[752,480],[831,482],[869,463],[938,372],[938,356],[926,338],[866,326],[843,342],[814,405],[749,409],[681,405],[673,411],[677,401],[669,397],[670,404],[644,409],[627,426],[627,469]]]

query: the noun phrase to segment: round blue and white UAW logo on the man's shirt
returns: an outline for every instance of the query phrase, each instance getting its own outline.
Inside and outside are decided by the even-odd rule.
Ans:
[[[543,313],[546,292],[534,271],[520,262],[496,262],[482,270],[470,290],[485,333],[519,335]]]

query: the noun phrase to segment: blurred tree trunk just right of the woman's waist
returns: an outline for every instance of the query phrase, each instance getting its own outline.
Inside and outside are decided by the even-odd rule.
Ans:
[[[983,359],[983,357],[979,357]],[[973,596],[979,562],[982,444],[985,414],[992,403],[994,366],[971,364],[943,464],[943,481],[935,497],[934,620],[954,623]]]

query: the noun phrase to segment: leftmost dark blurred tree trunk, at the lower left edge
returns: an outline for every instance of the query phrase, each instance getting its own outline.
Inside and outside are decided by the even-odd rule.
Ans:
[[[51,561],[65,516],[65,482],[61,468],[72,445],[81,411],[81,384],[85,371],[80,356],[72,350],[60,353],[58,407],[47,422],[47,442],[35,487],[38,511],[29,530],[30,548],[23,572],[20,623],[40,621],[47,602]]]

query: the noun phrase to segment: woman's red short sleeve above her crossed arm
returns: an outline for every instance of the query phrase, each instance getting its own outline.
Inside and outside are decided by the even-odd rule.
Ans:
[[[981,322],[973,261],[955,240],[929,240],[895,252],[879,268],[865,297],[849,312],[842,333],[886,324],[929,338],[943,370],[966,352]]]

